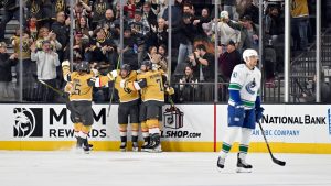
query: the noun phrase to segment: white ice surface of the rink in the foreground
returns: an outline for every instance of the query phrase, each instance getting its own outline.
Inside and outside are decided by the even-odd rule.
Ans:
[[[250,153],[253,173],[236,173],[236,154],[225,169],[217,153],[0,151],[0,186],[331,186],[331,155]]]

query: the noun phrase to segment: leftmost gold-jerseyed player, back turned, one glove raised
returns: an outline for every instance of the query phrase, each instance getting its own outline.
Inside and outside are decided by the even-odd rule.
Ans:
[[[81,62],[76,70],[71,73],[70,62],[64,61],[62,70],[64,80],[67,81],[64,90],[70,94],[67,109],[74,123],[76,147],[88,153],[92,150],[87,134],[93,124],[92,94],[93,87],[96,86],[95,73],[90,72],[88,62]],[[113,78],[110,74],[106,77]]]

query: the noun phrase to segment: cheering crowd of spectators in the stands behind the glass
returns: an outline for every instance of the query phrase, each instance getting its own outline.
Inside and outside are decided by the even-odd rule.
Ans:
[[[293,0],[300,1],[300,0]],[[266,1],[267,2],[267,1]],[[301,1],[300,1],[301,2]],[[302,1],[303,8],[307,7]],[[1,2],[0,2],[1,3]],[[220,81],[228,81],[236,64],[242,63],[241,53],[245,48],[256,48],[265,42],[270,55],[266,58],[266,77],[273,81],[282,65],[284,18],[281,3],[270,3],[265,10],[266,40],[259,40],[259,9],[254,0],[224,0],[220,4],[220,17],[215,8],[199,0],[174,0],[169,25],[168,0],[127,0],[124,6],[124,46],[120,48],[120,2],[119,0],[77,0],[74,2],[74,20],[70,19],[68,0],[24,0],[23,32],[4,39],[7,23],[19,19],[19,0],[2,1],[3,15],[0,23],[0,41],[12,44],[15,55],[3,55],[0,50],[0,81],[11,81],[10,66],[20,56],[23,61],[23,100],[56,102],[56,96],[42,87],[36,79],[44,80],[61,89],[61,62],[73,64],[82,61],[90,63],[100,74],[116,69],[118,62],[138,69],[143,59],[150,59],[163,70],[171,63],[171,84],[175,85],[177,101],[212,101],[214,70],[218,70]],[[300,7],[300,9],[302,9]],[[295,35],[298,50],[307,48],[308,19],[303,11],[292,11],[295,25],[300,31]],[[301,14],[300,14],[301,13]],[[308,13],[308,7],[307,7]],[[74,28],[74,44],[70,47],[70,25]],[[171,26],[171,59],[168,58],[168,31]],[[306,29],[305,29],[306,26]],[[295,30],[295,29],[293,29]],[[214,48],[215,32],[218,35]],[[20,37],[20,34],[22,37]],[[20,51],[20,42],[23,43]],[[6,43],[0,44],[0,48]],[[267,50],[268,48],[268,50]],[[278,48],[278,50],[277,50]],[[217,61],[215,62],[215,50]],[[19,55],[22,53],[22,55]],[[122,58],[119,58],[122,53]],[[271,57],[270,57],[271,56]],[[169,62],[170,61],[170,62]],[[6,62],[6,63],[4,63]],[[215,69],[218,63],[218,69]],[[8,75],[7,75],[8,74]],[[19,81],[19,80],[18,80]],[[186,85],[193,83],[195,85]],[[0,84],[3,89],[6,84]],[[273,84],[271,84],[273,86]],[[109,85],[111,87],[111,85]],[[4,88],[6,89],[6,88]],[[109,100],[109,88],[95,89],[95,101]]]

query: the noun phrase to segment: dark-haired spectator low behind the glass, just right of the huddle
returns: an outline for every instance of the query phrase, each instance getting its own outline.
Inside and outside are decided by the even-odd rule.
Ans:
[[[196,77],[193,75],[192,66],[188,65],[184,70],[184,76],[179,80],[179,101],[194,101],[194,95],[197,92]]]

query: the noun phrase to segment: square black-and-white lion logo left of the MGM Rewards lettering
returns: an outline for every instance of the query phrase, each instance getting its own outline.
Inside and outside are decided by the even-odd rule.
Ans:
[[[15,138],[42,136],[42,109],[14,108],[13,134]]]

